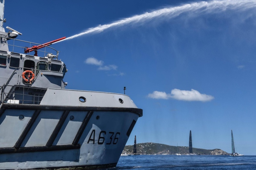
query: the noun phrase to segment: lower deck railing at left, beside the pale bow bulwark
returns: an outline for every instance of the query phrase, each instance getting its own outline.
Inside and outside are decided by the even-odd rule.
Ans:
[[[5,89],[8,90],[5,91]],[[40,104],[47,89],[4,85],[1,90],[1,103]]]

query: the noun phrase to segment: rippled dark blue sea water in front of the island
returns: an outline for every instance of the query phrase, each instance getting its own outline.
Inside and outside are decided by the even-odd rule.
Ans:
[[[132,155],[121,156],[112,169],[256,169],[256,156]]]

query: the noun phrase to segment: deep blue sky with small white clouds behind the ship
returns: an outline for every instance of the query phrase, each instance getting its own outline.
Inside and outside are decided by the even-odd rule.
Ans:
[[[4,27],[42,44],[91,32],[52,47],[67,65],[67,89],[125,86],[143,109],[127,145],[136,135],[188,146],[191,130],[193,147],[231,152],[232,129],[237,152],[255,155],[255,8],[249,0],[8,0]]]

